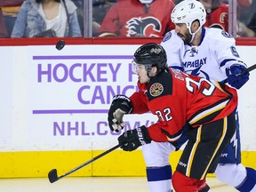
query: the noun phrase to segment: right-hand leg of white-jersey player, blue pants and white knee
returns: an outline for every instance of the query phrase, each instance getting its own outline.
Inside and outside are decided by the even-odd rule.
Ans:
[[[236,132],[221,154],[215,175],[221,182],[236,188],[238,191],[256,191],[256,171],[241,164],[238,120],[236,113]]]

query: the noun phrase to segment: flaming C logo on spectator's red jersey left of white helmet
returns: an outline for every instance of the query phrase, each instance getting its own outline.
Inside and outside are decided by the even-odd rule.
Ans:
[[[126,22],[127,36],[161,36],[161,22],[154,17],[132,18]]]

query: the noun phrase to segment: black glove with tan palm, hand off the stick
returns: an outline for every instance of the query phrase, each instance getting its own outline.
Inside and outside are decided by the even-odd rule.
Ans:
[[[123,116],[129,113],[132,113],[132,101],[125,95],[116,95],[108,110],[108,126],[112,132],[124,128]]]

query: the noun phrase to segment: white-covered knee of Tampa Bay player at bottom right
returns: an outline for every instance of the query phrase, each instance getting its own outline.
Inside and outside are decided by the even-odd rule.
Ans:
[[[221,182],[236,187],[246,177],[246,169],[243,164],[218,164],[215,175]]]

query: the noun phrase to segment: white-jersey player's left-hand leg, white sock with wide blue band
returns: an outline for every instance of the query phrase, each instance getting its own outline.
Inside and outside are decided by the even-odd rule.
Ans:
[[[150,192],[171,192],[172,168],[169,156],[175,148],[169,142],[154,142],[142,146]]]

